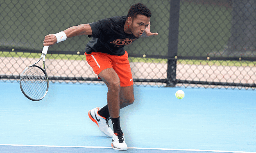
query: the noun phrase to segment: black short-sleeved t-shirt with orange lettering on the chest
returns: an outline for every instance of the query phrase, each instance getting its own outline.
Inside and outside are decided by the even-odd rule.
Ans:
[[[125,20],[126,16],[114,16],[90,23],[93,34],[88,35],[92,39],[86,44],[86,53],[101,52],[110,55],[124,55],[124,47],[136,40],[133,34],[125,33]]]

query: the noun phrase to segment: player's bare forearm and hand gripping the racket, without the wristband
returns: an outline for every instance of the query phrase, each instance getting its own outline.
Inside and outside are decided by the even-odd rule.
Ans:
[[[74,37],[77,35],[92,35],[92,29],[89,24],[80,24],[78,26],[70,27],[63,31],[66,34],[66,38]],[[65,36],[64,36],[65,37]],[[62,39],[62,36],[60,35]],[[57,43],[57,37],[53,34],[46,35],[43,41],[44,46],[52,46]]]

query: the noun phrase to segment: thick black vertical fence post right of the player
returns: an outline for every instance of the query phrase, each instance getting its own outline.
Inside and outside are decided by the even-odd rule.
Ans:
[[[170,1],[170,22],[169,22],[169,43],[168,43],[168,59],[167,62],[167,80],[166,86],[176,86],[176,65],[177,60],[174,56],[178,52],[178,34],[179,34],[179,3],[180,0]]]

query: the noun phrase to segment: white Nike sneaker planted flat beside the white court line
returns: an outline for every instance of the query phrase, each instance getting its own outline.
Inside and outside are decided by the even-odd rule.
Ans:
[[[115,133],[112,138],[111,146],[114,150],[127,150],[127,144],[125,143],[125,135]]]

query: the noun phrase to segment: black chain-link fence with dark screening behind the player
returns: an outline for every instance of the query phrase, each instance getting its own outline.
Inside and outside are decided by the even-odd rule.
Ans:
[[[0,1],[0,80],[18,80],[39,58],[45,35],[127,15],[137,2],[150,8],[151,31],[159,35],[125,47],[136,85],[255,89],[254,0]],[[77,36],[49,48],[52,82],[102,83],[83,55],[89,40]]]

